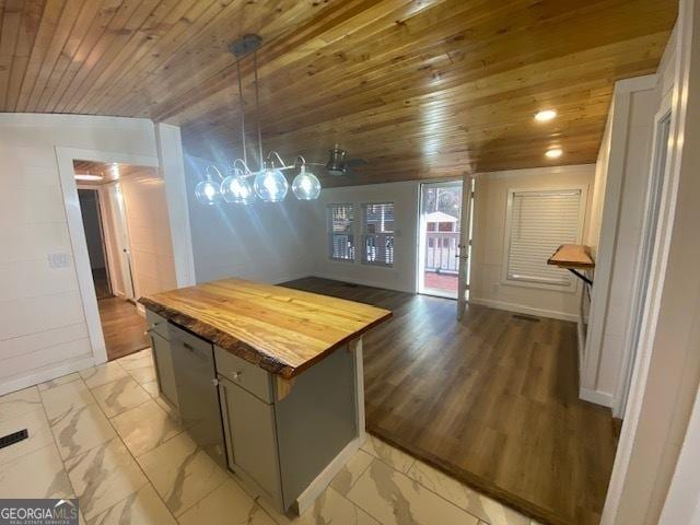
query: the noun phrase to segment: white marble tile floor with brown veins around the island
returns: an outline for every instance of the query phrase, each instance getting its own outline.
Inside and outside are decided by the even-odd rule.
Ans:
[[[0,397],[0,498],[78,497],[81,523],[537,525],[368,436],[302,516],[246,492],[171,418],[151,350]]]

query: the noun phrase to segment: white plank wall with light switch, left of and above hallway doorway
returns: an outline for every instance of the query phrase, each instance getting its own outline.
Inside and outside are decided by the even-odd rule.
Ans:
[[[156,154],[150,120],[0,115],[0,394],[93,363],[56,147]]]

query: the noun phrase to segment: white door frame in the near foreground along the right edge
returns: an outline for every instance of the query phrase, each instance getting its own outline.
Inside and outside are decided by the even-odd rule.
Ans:
[[[698,523],[700,471],[700,2],[680,0],[674,46],[670,167],[625,422],[602,525]],[[690,447],[690,448],[689,448]]]

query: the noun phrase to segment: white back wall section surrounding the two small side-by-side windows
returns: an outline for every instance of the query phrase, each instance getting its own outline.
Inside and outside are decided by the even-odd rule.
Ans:
[[[418,206],[420,184],[406,183],[372,184],[324,189],[313,207],[313,275],[327,279],[354,282],[370,287],[417,291],[416,265],[418,256]],[[355,209],[355,250],[354,262],[331,260],[328,258],[327,207],[330,203],[394,202],[394,266],[392,268],[362,265],[361,257],[361,217]]]

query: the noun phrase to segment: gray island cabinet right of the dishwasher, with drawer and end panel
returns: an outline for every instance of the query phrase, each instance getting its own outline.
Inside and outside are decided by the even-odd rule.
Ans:
[[[214,347],[229,466],[287,511],[358,435],[354,358],[340,349],[283,398],[267,371]]]

